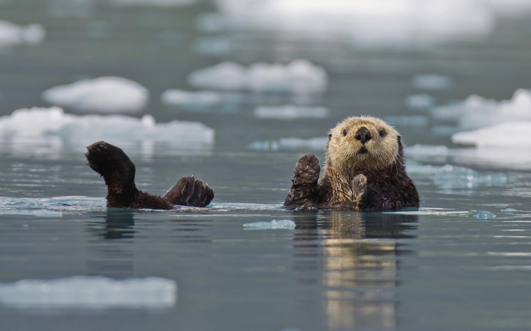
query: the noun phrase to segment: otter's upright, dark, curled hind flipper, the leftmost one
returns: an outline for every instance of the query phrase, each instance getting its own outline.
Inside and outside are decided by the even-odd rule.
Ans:
[[[136,193],[135,166],[121,148],[105,141],[98,141],[87,146],[87,150],[85,153],[87,165],[104,177],[107,200],[113,195],[125,198]]]

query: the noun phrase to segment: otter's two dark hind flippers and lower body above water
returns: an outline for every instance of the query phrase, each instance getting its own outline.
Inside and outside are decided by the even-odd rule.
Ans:
[[[107,185],[107,207],[174,209],[174,205],[206,207],[214,191],[194,177],[182,177],[164,196],[153,196],[136,188],[135,166],[125,152],[105,141],[87,146],[87,165],[100,174]]]

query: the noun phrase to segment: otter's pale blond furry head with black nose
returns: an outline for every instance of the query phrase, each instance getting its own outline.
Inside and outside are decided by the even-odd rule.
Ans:
[[[398,157],[399,137],[379,118],[347,118],[329,132],[327,164],[345,170],[386,167]]]

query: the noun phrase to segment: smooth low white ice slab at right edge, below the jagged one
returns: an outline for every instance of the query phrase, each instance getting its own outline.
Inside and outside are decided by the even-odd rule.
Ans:
[[[474,145],[479,148],[513,150],[529,148],[531,147],[531,121],[500,123],[474,131],[457,132],[452,135],[452,142]]]

